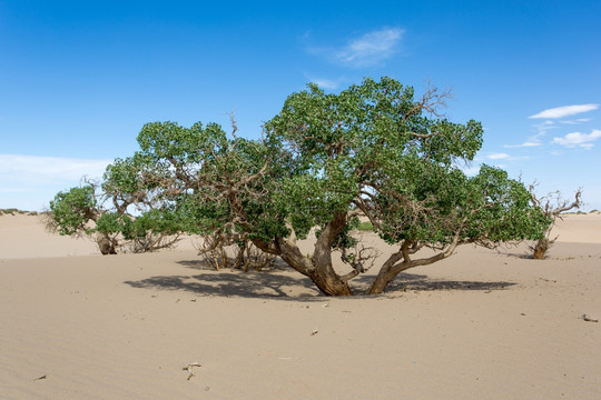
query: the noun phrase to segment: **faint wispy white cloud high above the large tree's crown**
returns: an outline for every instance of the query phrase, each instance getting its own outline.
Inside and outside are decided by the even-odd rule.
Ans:
[[[382,28],[353,38],[342,48],[309,47],[307,51],[351,68],[373,67],[398,51],[404,33],[400,28]]]

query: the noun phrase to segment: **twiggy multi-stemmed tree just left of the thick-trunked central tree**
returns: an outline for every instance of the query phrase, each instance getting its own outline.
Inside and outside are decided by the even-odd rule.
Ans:
[[[234,119],[229,138],[216,123],[147,123],[136,157],[152,166],[142,186],[158,182],[158,196],[175,204],[186,232],[201,238],[199,253],[216,269],[260,269],[274,257],[254,244],[248,219],[259,221],[253,216],[263,211],[276,168],[267,163],[264,143],[238,138],[236,131]],[[228,249],[234,249],[233,258]]]

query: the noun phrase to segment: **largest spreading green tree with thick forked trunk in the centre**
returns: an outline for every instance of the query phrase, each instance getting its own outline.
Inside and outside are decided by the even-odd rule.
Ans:
[[[481,148],[482,127],[443,118],[449,97],[428,89],[415,100],[413,88],[390,78],[339,94],[309,84],[266,122],[262,140],[238,138],[235,124],[228,137],[214,123],[154,122],[138,136],[136,157],[149,160],[145,179],[186,216],[186,231],[249,241],[328,296],[353,294],[348,282],[373,262],[353,237],[358,217],[368,218],[398,249],[371,286],[381,293],[401,271],[445,259],[460,244],[538,240],[549,223],[504,171],[484,166],[469,178],[457,168]],[[306,256],[296,238],[314,227]],[[436,253],[414,258],[424,248]],[[346,273],[335,271],[335,252]]]

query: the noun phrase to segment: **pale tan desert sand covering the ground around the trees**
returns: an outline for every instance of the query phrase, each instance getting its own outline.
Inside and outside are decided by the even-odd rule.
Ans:
[[[0,399],[601,399],[582,318],[601,319],[601,216],[555,234],[544,261],[464,247],[341,299],[285,268],[216,272],[190,243],[102,257],[2,216]]]

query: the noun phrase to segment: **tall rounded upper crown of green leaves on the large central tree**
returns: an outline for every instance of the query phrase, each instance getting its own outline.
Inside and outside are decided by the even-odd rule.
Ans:
[[[288,97],[265,128],[267,142],[288,149],[296,163],[277,193],[295,231],[303,236],[327,223],[362,191],[378,192],[383,184],[423,200],[437,183],[423,186],[428,170],[474,157],[482,144],[480,123],[426,118],[413,96],[413,88],[383,78],[339,94],[309,86]]]

